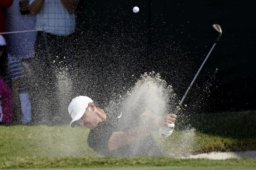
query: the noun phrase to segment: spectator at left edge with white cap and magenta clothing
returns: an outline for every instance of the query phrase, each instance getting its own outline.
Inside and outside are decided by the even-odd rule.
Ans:
[[[0,35],[0,124],[13,123],[13,98],[6,80],[7,51],[5,39]]]

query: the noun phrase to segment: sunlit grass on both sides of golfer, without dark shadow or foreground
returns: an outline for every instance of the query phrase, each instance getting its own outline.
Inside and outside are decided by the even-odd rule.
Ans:
[[[69,126],[0,126],[1,157],[99,157],[87,146],[89,130]],[[231,138],[195,131],[174,131],[169,138],[154,134],[165,156],[211,151],[256,149],[256,138]]]

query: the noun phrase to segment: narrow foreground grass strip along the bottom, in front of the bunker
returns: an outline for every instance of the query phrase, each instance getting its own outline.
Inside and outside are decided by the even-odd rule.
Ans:
[[[145,167],[176,167],[183,168],[213,168],[213,167],[240,167],[243,169],[256,168],[255,159],[227,159],[227,160],[207,160],[207,159],[174,159],[174,158],[16,158],[0,159],[0,168],[142,168]]]

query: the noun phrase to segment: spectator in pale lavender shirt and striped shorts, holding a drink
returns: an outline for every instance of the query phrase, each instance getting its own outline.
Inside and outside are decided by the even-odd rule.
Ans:
[[[29,12],[29,1],[14,0],[6,8],[6,31],[24,31],[35,29],[36,17]],[[25,12],[25,13],[24,13]],[[14,100],[15,123],[29,123],[31,120],[31,105],[28,93],[27,60],[34,57],[34,41],[36,32],[12,33],[6,35],[7,52],[10,60],[10,76]],[[26,67],[26,68],[24,68]]]

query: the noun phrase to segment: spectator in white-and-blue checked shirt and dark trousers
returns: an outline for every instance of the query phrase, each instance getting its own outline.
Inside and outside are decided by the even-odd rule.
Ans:
[[[58,74],[70,71],[70,63],[74,60],[77,0],[31,0],[29,5],[30,12],[37,14],[36,29],[45,31],[37,31],[34,46],[34,65],[41,80],[37,101],[41,103],[40,111],[46,112],[51,120],[58,121],[66,114],[64,108],[69,102],[60,101],[65,92],[58,85],[58,80],[65,78],[58,77]]]

